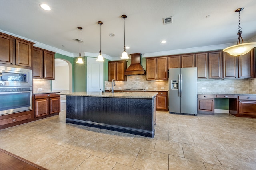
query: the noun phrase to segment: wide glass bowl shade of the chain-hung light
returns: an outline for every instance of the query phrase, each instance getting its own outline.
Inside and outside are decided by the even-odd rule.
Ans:
[[[256,47],[256,43],[242,43],[227,47],[223,49],[223,51],[229,53],[230,55],[241,56],[251,51],[251,49],[254,47]]]

